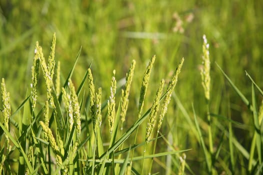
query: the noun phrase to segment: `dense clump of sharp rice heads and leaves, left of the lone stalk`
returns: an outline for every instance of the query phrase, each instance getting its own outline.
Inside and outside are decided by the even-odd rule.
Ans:
[[[51,172],[61,174],[72,174],[74,172],[86,174],[130,174],[137,172],[132,166],[132,161],[142,160],[141,173],[145,158],[164,156],[174,154],[180,151],[170,151],[155,153],[156,140],[159,134],[163,117],[167,111],[167,106],[171,98],[171,93],[176,85],[177,77],[183,64],[181,59],[176,68],[166,90],[164,80],[160,81],[156,91],[154,101],[149,109],[144,109],[142,113],[146,90],[148,87],[149,77],[155,55],[146,67],[142,77],[139,105],[137,110],[133,110],[133,115],[137,120],[128,128],[123,128],[126,111],[128,108],[129,92],[132,86],[132,78],[135,68],[135,60],[132,60],[130,68],[126,73],[126,81],[121,89],[120,100],[116,102],[116,71],[113,70],[111,78],[110,96],[107,99],[107,107],[101,105],[101,88],[95,88],[91,68],[88,68],[77,89],[72,83],[71,76],[78,60],[79,53],[75,63],[70,70],[64,85],[60,87],[60,62],[55,62],[55,42],[53,39],[50,46],[50,53],[47,62],[45,61],[42,48],[36,42],[33,65],[31,67],[32,77],[30,83],[30,94],[26,96],[19,108],[11,114],[9,93],[6,92],[4,79],[1,82],[2,94],[2,116],[3,124],[0,126],[4,133],[4,143],[1,148],[0,172],[17,172],[23,174]],[[41,73],[39,71],[42,71]],[[38,94],[39,76],[43,76],[45,83],[45,97]],[[87,79],[88,96],[85,98],[84,93],[80,98],[80,92]],[[39,97],[41,96],[41,98]],[[83,105],[85,99],[87,105]],[[44,100],[44,102],[42,102]],[[160,108],[160,111],[159,111]],[[21,111],[23,114],[21,116]],[[29,109],[29,111],[28,111]],[[107,109],[107,119],[102,119],[101,111]],[[83,111],[83,112],[81,112]],[[30,117],[28,117],[28,114]],[[14,116],[19,115],[18,120]],[[144,142],[136,144],[138,126],[148,118]],[[101,123],[107,122],[109,128],[110,141],[105,145],[107,138],[104,138],[101,130]],[[91,126],[92,125],[92,126]],[[89,129],[89,127],[93,129]],[[14,128],[15,131],[11,131]],[[136,130],[134,145],[123,148],[123,143],[130,134]],[[153,131],[155,130],[155,134]],[[154,135],[154,136],[152,136]],[[140,135],[141,136],[141,135]],[[147,144],[154,138],[154,149],[150,150],[152,154],[146,155],[145,149]],[[143,156],[134,156],[134,149],[144,145]],[[132,154],[129,152],[132,151]],[[9,164],[17,157],[12,155],[16,152],[19,154],[19,161]],[[151,164],[148,173],[151,172]],[[184,164],[184,163],[182,163]],[[12,167],[15,167],[14,169]],[[184,165],[183,165],[184,168]]]

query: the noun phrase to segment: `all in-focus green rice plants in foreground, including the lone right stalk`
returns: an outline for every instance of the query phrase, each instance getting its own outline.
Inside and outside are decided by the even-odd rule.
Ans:
[[[53,39],[50,46],[50,54],[47,63],[43,56],[42,48],[36,42],[34,49],[33,65],[31,67],[32,77],[30,88],[31,92],[26,95],[23,102],[11,114],[9,92],[6,90],[4,78],[1,81],[1,96],[2,96],[2,128],[1,136],[1,164],[0,171],[3,173],[44,173],[48,174],[53,171],[61,174],[85,173],[85,174],[141,174],[147,171],[149,174],[152,170],[153,158],[165,155],[175,154],[179,157],[177,165],[177,173],[184,173],[184,166],[189,172],[193,173],[191,166],[185,161],[187,152],[181,154],[179,152],[186,150],[172,150],[156,153],[157,139],[160,134],[160,128],[163,118],[167,112],[169,101],[172,97],[174,87],[177,83],[178,75],[180,73],[184,59],[182,58],[175,72],[173,73],[166,91],[163,91],[164,79],[161,79],[157,88],[156,95],[153,99],[150,108],[142,113],[143,103],[145,99],[146,90],[149,86],[148,79],[151,73],[151,68],[155,60],[155,55],[152,56],[148,66],[143,75],[141,83],[140,97],[138,109],[133,109],[132,114],[127,114],[128,101],[130,88],[132,86],[132,79],[135,68],[135,60],[132,61],[128,72],[126,73],[125,83],[121,88],[119,102],[115,100],[116,93],[116,78],[115,70],[110,85],[110,96],[102,102],[101,87],[95,88],[93,83],[93,75],[91,68],[86,70],[83,75],[80,85],[75,89],[75,85],[71,80],[75,65],[78,60],[79,53],[77,54],[75,63],[71,68],[64,85],[60,88],[60,72],[59,67],[55,67],[55,41]],[[216,162],[219,161],[219,153],[222,148],[224,135],[228,138],[229,146],[229,172],[235,173],[235,156],[233,153],[233,146],[237,148],[240,153],[248,159],[248,166],[246,171],[254,173],[262,171],[262,104],[259,110],[256,107],[255,87],[263,94],[258,85],[253,81],[251,76],[246,72],[246,75],[251,80],[251,98],[248,99],[242,92],[234,85],[230,78],[223,72],[229,84],[233,87],[234,91],[240,96],[243,102],[248,106],[253,115],[253,126],[255,128],[252,144],[250,146],[250,153],[248,153],[243,146],[234,138],[232,133],[232,123],[236,123],[229,117],[220,116],[219,114],[210,111],[210,60],[209,60],[209,44],[207,43],[206,36],[203,35],[203,56],[201,73],[201,84],[204,89],[204,97],[207,106],[206,121],[202,121],[207,127],[208,143],[205,143],[205,136],[202,134],[201,127],[194,105],[192,105],[194,123],[192,119],[188,118],[189,126],[196,135],[200,143],[205,158],[205,171],[209,174],[216,174],[218,167]],[[58,64],[59,66],[59,64]],[[42,70],[40,73],[40,69]],[[55,79],[53,78],[54,72]],[[40,81],[40,76],[43,77]],[[81,91],[87,79],[88,93],[87,95]],[[39,83],[44,83],[45,97],[38,99]],[[110,82],[109,82],[110,83]],[[85,91],[85,90],[84,90]],[[41,94],[40,94],[41,95]],[[42,96],[42,95],[41,95]],[[177,98],[177,97],[176,97]],[[41,100],[44,99],[44,102]],[[178,99],[177,99],[178,100]],[[63,102],[62,102],[63,101]],[[107,108],[106,108],[107,104]],[[179,104],[179,103],[178,103]],[[160,107],[160,112],[159,111]],[[107,109],[107,111],[105,111]],[[183,111],[183,107],[181,106]],[[22,113],[21,113],[22,111]],[[116,112],[115,112],[116,111]],[[186,113],[185,113],[186,114]],[[16,119],[14,119],[15,115]],[[123,123],[128,116],[135,116],[135,121],[127,129],[123,128]],[[187,114],[186,114],[187,115]],[[103,117],[102,117],[103,116]],[[218,119],[228,121],[228,127],[224,128],[217,122],[212,122],[211,116]],[[106,119],[106,117],[108,119]],[[143,120],[148,117],[146,123],[146,130],[142,142],[136,143],[139,126],[142,125]],[[105,121],[108,120],[107,126]],[[214,147],[212,125],[222,129],[222,135],[217,143],[218,146]],[[104,126],[103,126],[104,125]],[[108,127],[109,131],[103,130]],[[205,128],[203,128],[205,129]],[[133,131],[136,130],[135,137],[132,138]],[[155,131],[156,134],[153,132]],[[159,135],[160,134],[160,135]],[[152,135],[153,138],[152,138]],[[109,139],[107,139],[109,137]],[[165,137],[163,137],[165,140]],[[134,140],[130,144],[130,140]],[[127,143],[126,143],[127,142]],[[151,146],[148,144],[151,143]],[[167,142],[168,143],[168,142]],[[128,146],[127,146],[128,145]],[[144,145],[142,155],[134,156],[135,150]],[[127,147],[124,147],[127,146]],[[130,151],[132,152],[130,154]],[[254,159],[254,152],[256,152]],[[137,152],[138,153],[138,152]],[[19,161],[16,161],[18,160]],[[144,165],[144,161],[149,159],[149,164]],[[139,166],[138,160],[141,160]],[[12,162],[12,163],[10,163]],[[140,167],[138,169],[138,167]]]

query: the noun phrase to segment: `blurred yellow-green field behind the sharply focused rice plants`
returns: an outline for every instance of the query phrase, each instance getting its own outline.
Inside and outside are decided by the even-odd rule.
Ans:
[[[252,116],[215,62],[247,98],[251,86],[244,70],[263,86],[262,9],[262,0],[0,0],[0,77],[5,78],[13,109],[17,108],[29,89],[35,42],[39,41],[47,58],[56,32],[55,59],[61,61],[62,77],[82,46],[73,82],[80,83],[92,61],[95,85],[102,87],[104,100],[110,92],[112,70],[116,69],[120,80],[131,60],[136,60],[128,108],[132,111],[137,108],[142,74],[151,56],[155,54],[156,61],[145,109],[151,105],[159,80],[164,77],[168,81],[184,57],[175,93],[191,118],[192,103],[205,118],[199,66],[202,35],[206,34],[211,60],[210,110],[227,115],[230,109],[232,119],[245,124],[234,126],[234,133],[248,149]],[[172,99],[162,132],[171,133],[174,147],[193,149],[186,154],[186,162],[195,169],[203,164],[203,157],[188,124]],[[216,140],[220,132],[215,130]],[[227,150],[222,159],[226,154]],[[218,169],[223,169],[220,163]]]

